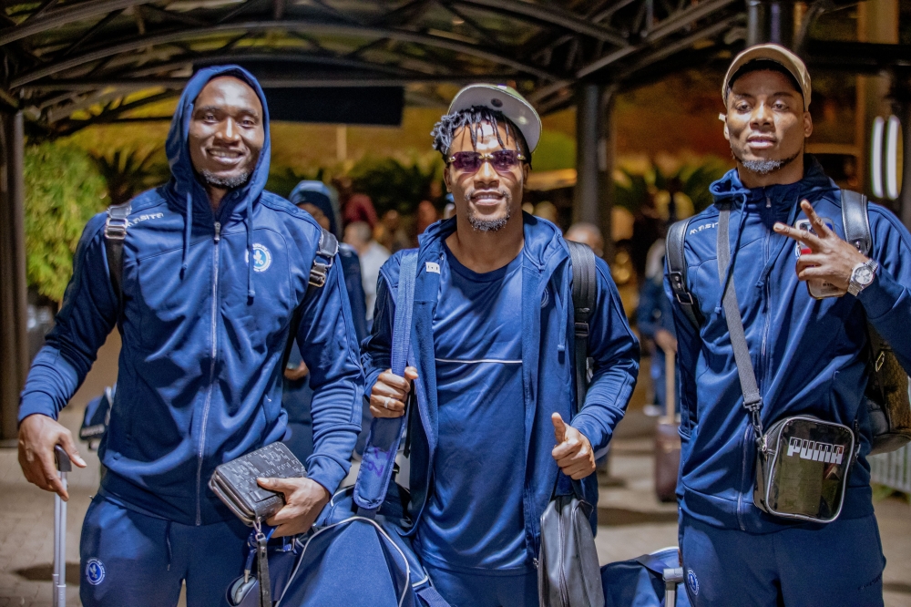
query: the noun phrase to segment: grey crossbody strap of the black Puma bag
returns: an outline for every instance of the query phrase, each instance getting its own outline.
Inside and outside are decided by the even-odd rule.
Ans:
[[[763,436],[763,421],[760,417],[763,397],[760,396],[759,386],[756,384],[756,373],[752,367],[750,348],[747,346],[746,334],[743,331],[743,319],[740,315],[740,304],[737,302],[733,273],[728,272],[728,266],[731,264],[730,225],[731,204],[726,203],[722,205],[718,216],[718,281],[722,285],[724,320],[728,324],[734,361],[737,364],[737,376],[740,377],[743,408],[750,415],[750,422],[758,439]]]

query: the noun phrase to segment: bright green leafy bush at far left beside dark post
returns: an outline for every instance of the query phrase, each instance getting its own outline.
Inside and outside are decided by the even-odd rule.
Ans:
[[[25,184],[28,284],[60,301],[83,228],[108,204],[105,180],[82,149],[45,142],[26,148]]]

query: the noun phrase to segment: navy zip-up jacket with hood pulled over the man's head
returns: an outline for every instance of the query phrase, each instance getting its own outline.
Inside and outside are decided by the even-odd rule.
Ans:
[[[194,173],[193,103],[214,77],[237,77],[260,98],[265,140],[247,184],[217,212]],[[281,371],[292,317],[310,368],[315,451],[308,476],[331,493],[348,473],[360,429],[363,374],[341,264],[308,286],[321,229],[263,190],[269,174],[266,98],[241,67],[189,80],[166,147],[173,178],[132,201],[123,314],[107,273],[105,213],[88,222],[73,277],[22,393],[19,419],[56,418],[115,324],[118,389],[99,454],[101,493],[125,507],[200,525],[233,515],[207,486],[220,463],[281,440]],[[336,256],[335,260],[338,260]]]

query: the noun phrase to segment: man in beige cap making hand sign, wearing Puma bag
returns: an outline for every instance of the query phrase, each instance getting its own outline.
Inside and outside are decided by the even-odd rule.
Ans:
[[[748,48],[722,98],[737,166],[668,238],[687,591],[698,607],[882,605],[867,322],[911,369],[911,235],[804,153],[800,58]],[[844,241],[843,203],[868,218],[866,253]]]

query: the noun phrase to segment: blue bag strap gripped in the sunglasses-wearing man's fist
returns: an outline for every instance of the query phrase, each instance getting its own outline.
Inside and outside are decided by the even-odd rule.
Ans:
[[[415,306],[415,277],[417,276],[417,252],[409,251],[402,256],[399,270],[398,293],[395,296],[395,319],[393,324],[392,371],[404,377],[404,367],[411,352],[411,324]],[[373,519],[380,508],[392,478],[395,454],[402,442],[405,429],[403,417],[375,417],[370,425],[367,446],[363,449],[361,469],[354,484],[354,503],[357,513]]]

